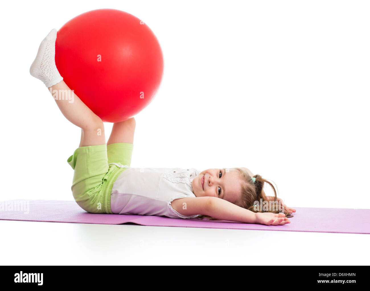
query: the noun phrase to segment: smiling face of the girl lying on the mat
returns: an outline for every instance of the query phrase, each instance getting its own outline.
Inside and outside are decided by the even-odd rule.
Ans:
[[[238,204],[242,183],[236,169],[208,169],[199,173],[191,185],[195,197],[213,196]]]

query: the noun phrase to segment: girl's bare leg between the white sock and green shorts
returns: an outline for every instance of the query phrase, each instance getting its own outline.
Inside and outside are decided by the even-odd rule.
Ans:
[[[65,118],[81,128],[80,147],[105,144],[104,123],[101,118],[92,112],[74,92],[71,92],[64,81],[48,89]],[[72,95],[73,102],[68,98],[62,98],[62,96]]]

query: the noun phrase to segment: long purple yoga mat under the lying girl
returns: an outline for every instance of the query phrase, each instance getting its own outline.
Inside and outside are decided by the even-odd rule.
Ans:
[[[0,219],[97,224],[121,224],[132,222],[145,226],[370,233],[370,209],[307,207],[295,207],[295,209],[296,212],[293,213],[294,217],[289,219],[289,224],[267,226],[226,220],[206,221],[197,219],[176,219],[165,216],[92,214],[85,212],[74,201],[9,200],[0,202]]]

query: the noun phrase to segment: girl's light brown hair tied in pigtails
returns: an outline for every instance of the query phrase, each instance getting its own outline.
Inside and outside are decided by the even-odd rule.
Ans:
[[[241,185],[241,193],[242,193],[241,200],[239,200],[238,202],[235,202],[234,204],[236,204],[240,207],[243,207],[245,209],[248,209],[252,212],[279,213],[279,210],[275,209],[275,207],[277,206],[276,189],[272,185],[271,182],[269,182],[266,179],[263,179],[262,176],[260,176],[260,175],[254,175],[253,177],[256,178],[256,182],[253,183],[252,177],[249,176],[249,174],[248,174],[248,172],[246,171],[245,168],[232,168],[232,169],[236,169],[236,170],[239,171],[239,177],[243,181],[242,185]],[[274,191],[274,194],[275,194],[274,201],[275,201],[275,203],[269,203],[268,210],[261,210],[262,205],[260,205],[260,207],[258,209],[258,207],[254,207],[254,204],[255,204],[255,201],[260,202],[260,199],[262,199],[262,201],[268,201],[268,199],[266,197],[266,193],[263,190],[263,188],[265,186],[265,183],[268,183],[271,186],[272,190]],[[257,210],[255,210],[255,208]],[[284,213],[285,213],[286,216],[289,214],[289,212],[287,212],[287,210],[285,210]],[[219,220],[217,218],[214,218],[214,217],[211,217],[211,216],[208,216],[208,215],[200,215],[196,218],[197,219]]]

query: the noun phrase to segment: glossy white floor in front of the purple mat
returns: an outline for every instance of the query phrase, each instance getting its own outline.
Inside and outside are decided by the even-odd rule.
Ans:
[[[276,265],[257,259],[275,254],[281,265],[370,259],[368,234],[8,220],[0,229],[1,265]]]

